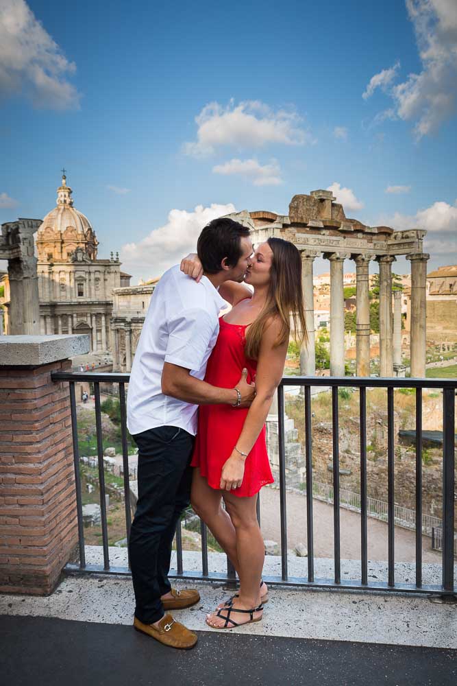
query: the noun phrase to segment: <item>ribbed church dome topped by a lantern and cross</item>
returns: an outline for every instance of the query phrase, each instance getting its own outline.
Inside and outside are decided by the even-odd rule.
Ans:
[[[38,228],[36,247],[40,261],[68,261],[77,248],[82,248],[90,261],[97,259],[97,237],[86,215],[73,206],[71,193],[64,174],[57,189],[57,206]]]

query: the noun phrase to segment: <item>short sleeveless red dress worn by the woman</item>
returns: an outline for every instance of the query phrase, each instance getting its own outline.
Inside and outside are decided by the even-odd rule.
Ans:
[[[219,318],[219,336],[208,359],[205,381],[219,388],[234,388],[243,367],[247,368],[247,381],[254,381],[257,364],[245,357],[245,330],[247,324],[229,324]],[[230,405],[200,405],[197,438],[191,465],[200,468],[211,488],[219,490],[221,473],[230,458],[243,429],[247,408],[238,410]],[[265,444],[265,427],[245,460],[245,474],[240,488],[232,490],[239,497],[258,493],[265,484],[273,484]]]

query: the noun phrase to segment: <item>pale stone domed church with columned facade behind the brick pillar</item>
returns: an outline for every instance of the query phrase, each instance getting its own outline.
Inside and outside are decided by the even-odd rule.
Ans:
[[[97,259],[97,236],[88,218],[73,205],[72,189],[62,176],[57,204],[38,228],[38,297],[42,335],[84,333],[92,352],[111,351],[113,289],[128,286],[119,255]],[[5,286],[5,329],[8,333],[8,276]]]

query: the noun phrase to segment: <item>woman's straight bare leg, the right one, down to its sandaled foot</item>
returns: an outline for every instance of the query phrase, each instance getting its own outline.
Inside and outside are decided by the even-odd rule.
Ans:
[[[223,499],[236,531],[237,571],[240,578],[239,598],[235,598],[230,616],[237,624],[245,624],[250,620],[249,614],[235,611],[237,608],[249,610],[260,605],[260,580],[265,558],[264,542],[257,521],[257,496],[240,498],[224,492]],[[227,608],[223,608],[221,614],[226,616]],[[261,616],[262,611],[254,613],[254,619]],[[208,615],[206,622],[210,626],[223,626],[225,619],[217,617],[217,613],[212,613]]]

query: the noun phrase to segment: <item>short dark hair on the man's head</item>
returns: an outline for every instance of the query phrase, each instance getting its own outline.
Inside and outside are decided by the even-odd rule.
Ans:
[[[201,230],[197,241],[197,253],[203,271],[217,274],[221,271],[224,257],[226,264],[234,267],[242,255],[241,239],[249,236],[249,228],[227,217],[213,219]]]

